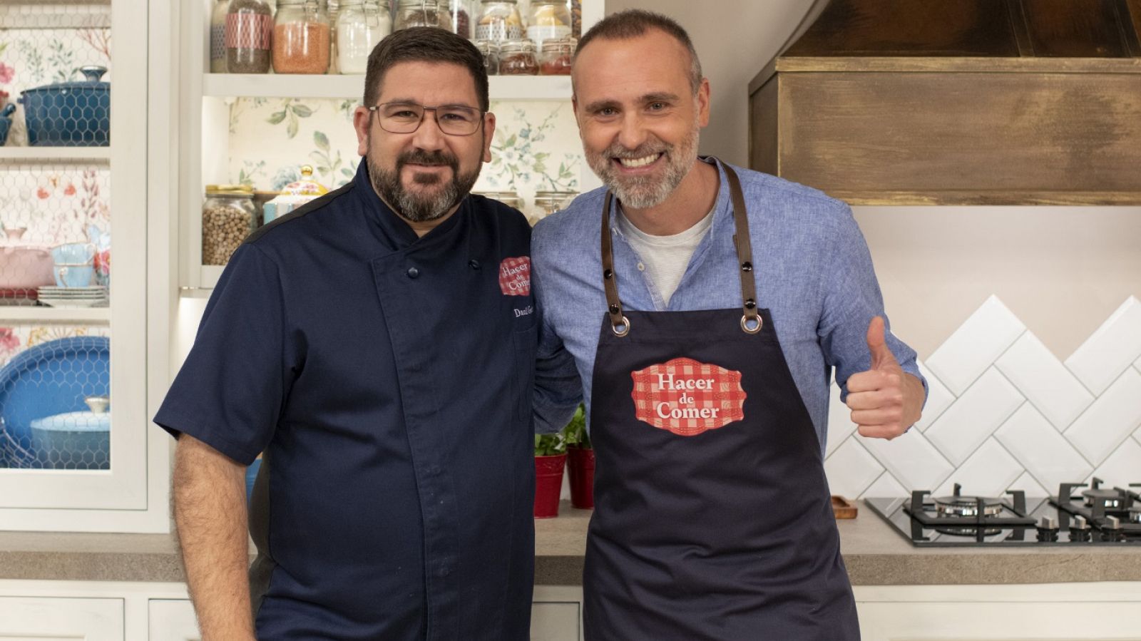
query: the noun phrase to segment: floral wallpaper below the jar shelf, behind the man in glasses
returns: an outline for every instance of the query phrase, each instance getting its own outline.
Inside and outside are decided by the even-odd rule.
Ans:
[[[229,111],[229,178],[256,189],[278,190],[314,168],[333,189],[356,173],[353,111],[357,100],[238,98]],[[493,102],[492,162],[476,192],[513,190],[531,210],[536,190],[577,190],[582,167],[578,129],[569,103]]]

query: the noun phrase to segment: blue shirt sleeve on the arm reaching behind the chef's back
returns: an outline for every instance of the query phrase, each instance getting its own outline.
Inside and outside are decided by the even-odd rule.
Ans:
[[[553,433],[561,430],[582,403],[582,379],[574,357],[563,344],[563,339],[543,314],[541,269],[535,269],[531,282],[535,289],[539,308],[539,350],[535,356],[535,393],[532,414],[535,432]]]

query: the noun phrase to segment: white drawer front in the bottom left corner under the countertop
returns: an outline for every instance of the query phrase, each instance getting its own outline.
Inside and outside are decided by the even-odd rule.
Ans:
[[[122,599],[0,597],[0,641],[122,641]]]

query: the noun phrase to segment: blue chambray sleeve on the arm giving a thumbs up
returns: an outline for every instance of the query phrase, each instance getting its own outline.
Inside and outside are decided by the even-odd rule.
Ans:
[[[891,320],[883,309],[883,295],[872,266],[864,234],[851,208],[840,205],[831,246],[825,255],[827,268],[822,270],[824,309],[817,328],[824,357],[836,368],[840,398],[848,398],[848,378],[872,366],[867,349],[867,326],[875,316],[884,320],[884,340],[904,372],[923,383],[926,403],[926,380],[915,363],[915,350],[891,333]]]

